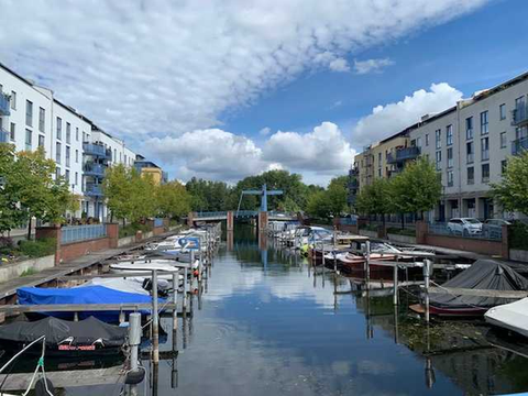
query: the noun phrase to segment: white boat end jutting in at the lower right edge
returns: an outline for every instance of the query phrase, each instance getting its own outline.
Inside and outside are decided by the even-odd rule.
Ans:
[[[491,308],[484,318],[491,324],[528,337],[528,298]]]

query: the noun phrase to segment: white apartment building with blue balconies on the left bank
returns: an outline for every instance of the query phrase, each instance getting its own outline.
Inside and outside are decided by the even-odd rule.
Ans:
[[[16,151],[43,146],[57,164],[73,193],[81,198],[74,217],[106,220],[101,183],[113,164],[133,166],[135,153],[95,125],[74,108],[54,98],[52,90],[0,64],[0,143],[12,143]]]

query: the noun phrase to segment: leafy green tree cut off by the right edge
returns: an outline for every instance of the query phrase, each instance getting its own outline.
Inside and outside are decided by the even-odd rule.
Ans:
[[[504,210],[519,211],[528,216],[528,151],[510,157],[501,183],[491,184],[492,197]]]

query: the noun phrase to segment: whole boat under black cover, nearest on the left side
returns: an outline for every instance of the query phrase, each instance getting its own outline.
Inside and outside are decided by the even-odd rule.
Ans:
[[[20,350],[45,336],[46,355],[85,356],[116,354],[125,343],[128,329],[105,323],[88,317],[68,321],[47,317],[37,321],[15,321],[0,326],[0,345],[7,350]],[[42,343],[35,343],[29,353],[42,353]]]

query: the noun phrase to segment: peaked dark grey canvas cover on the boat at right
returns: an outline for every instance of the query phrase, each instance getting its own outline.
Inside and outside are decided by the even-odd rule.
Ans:
[[[451,280],[446,282],[443,287],[470,288],[484,290],[527,290],[528,279],[516,273],[508,265],[495,260],[481,258],[473,265],[460,273]],[[479,297],[479,296],[453,296],[451,294],[431,295],[430,304],[438,307],[490,308],[502,304],[513,302],[512,298]]]

